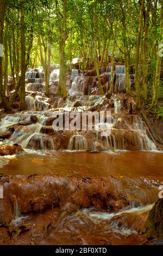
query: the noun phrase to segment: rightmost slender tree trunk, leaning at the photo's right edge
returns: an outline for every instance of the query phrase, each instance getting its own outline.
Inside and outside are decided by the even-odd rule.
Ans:
[[[163,0],[161,0],[161,33],[160,33],[160,42],[163,35]],[[156,112],[156,108],[158,106],[158,93],[159,93],[159,83],[160,83],[160,69],[161,69],[161,57],[157,56],[156,61],[156,71],[155,71],[155,80],[153,85],[153,99],[152,99],[152,107],[154,108],[154,111]]]

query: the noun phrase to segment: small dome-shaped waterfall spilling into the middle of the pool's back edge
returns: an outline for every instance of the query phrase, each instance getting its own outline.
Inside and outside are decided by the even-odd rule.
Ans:
[[[69,150],[87,150],[86,138],[82,135],[73,135],[68,145]]]

